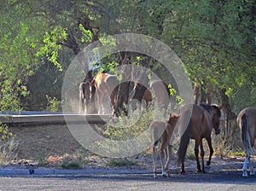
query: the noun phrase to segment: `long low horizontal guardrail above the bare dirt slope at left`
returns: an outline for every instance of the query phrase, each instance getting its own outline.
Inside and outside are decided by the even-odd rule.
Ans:
[[[106,124],[109,115],[97,114],[0,114],[2,124],[70,124],[70,123],[88,123],[88,124]]]

